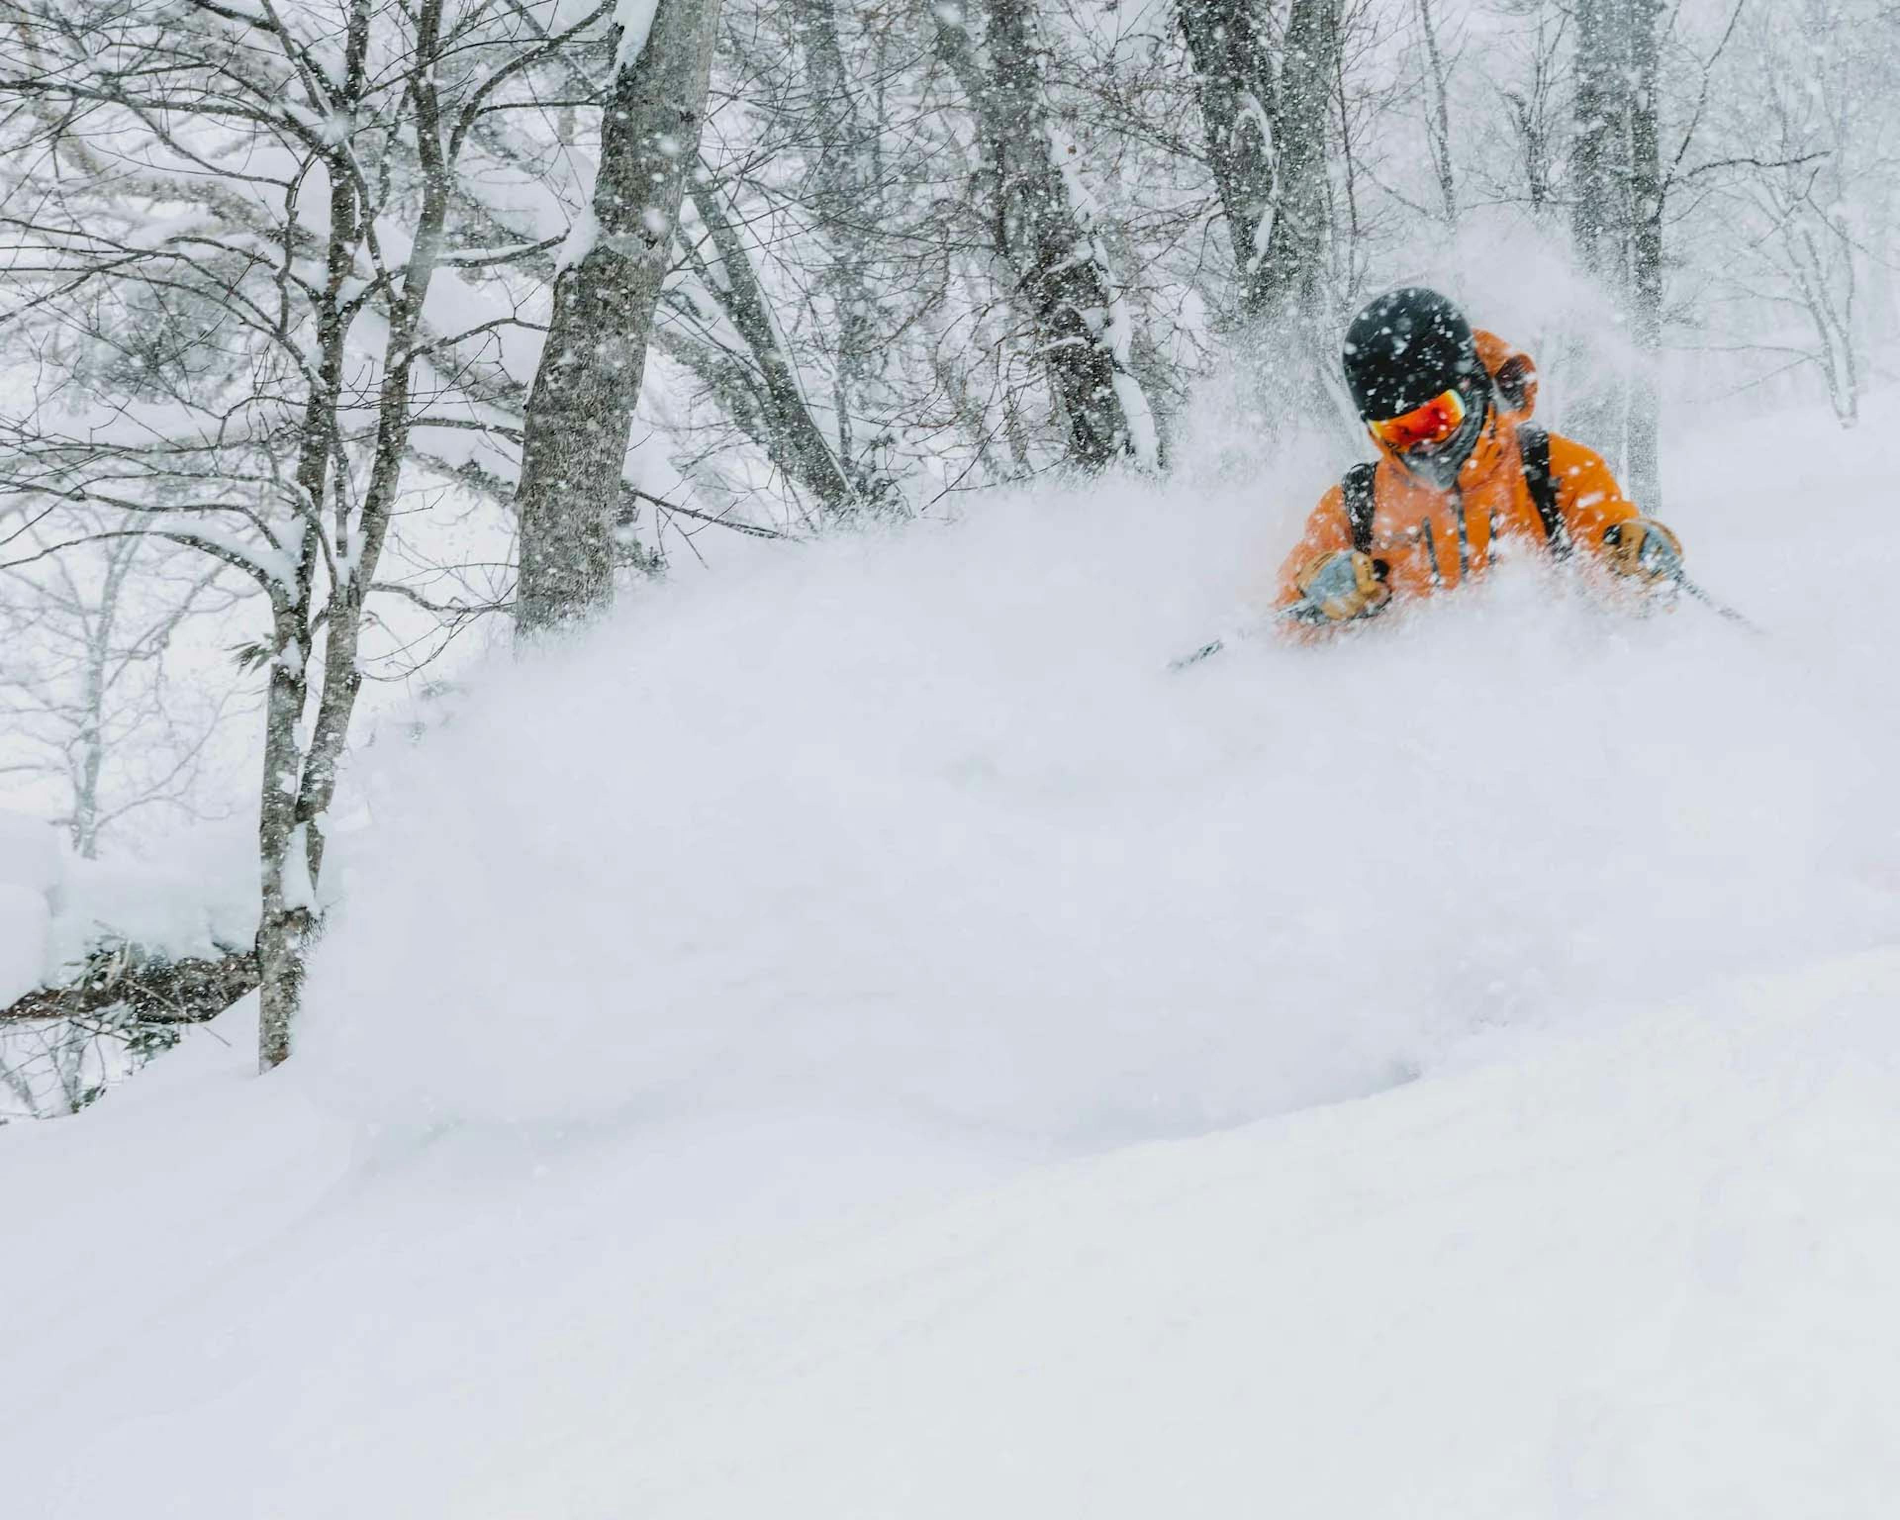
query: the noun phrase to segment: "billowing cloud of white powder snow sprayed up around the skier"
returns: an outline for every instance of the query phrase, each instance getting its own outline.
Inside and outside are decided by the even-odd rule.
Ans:
[[[1803,428],[1674,462],[1668,517],[1763,640],[1522,566],[1168,674],[1336,460],[642,595],[376,777],[304,1058],[386,1123],[808,1108],[1092,1148],[1877,942],[1890,640],[1790,545],[1900,543]]]

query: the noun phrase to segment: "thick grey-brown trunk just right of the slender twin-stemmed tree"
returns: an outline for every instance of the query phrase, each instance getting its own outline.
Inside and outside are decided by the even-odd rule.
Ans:
[[[614,598],[621,471],[680,194],[697,163],[716,28],[718,0],[659,0],[646,46],[614,74],[591,218],[555,277],[522,428],[522,635]]]

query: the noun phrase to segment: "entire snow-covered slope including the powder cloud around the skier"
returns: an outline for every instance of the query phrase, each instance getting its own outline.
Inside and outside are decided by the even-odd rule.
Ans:
[[[0,1132],[8,1509],[1890,1512],[1896,420],[1670,458],[1765,638],[1168,674],[1336,464],[1210,456],[490,671],[289,1068]]]

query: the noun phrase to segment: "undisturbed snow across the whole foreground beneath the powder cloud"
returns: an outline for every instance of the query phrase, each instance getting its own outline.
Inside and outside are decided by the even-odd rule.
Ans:
[[[1889,950],[1493,1032],[823,1229],[758,1193],[880,1136],[352,1155],[294,1070],[200,1043],[0,1132],[15,1218],[57,1226],[0,1252],[11,1512],[1877,1520],[1896,999]],[[682,1256],[694,1214],[726,1233]]]

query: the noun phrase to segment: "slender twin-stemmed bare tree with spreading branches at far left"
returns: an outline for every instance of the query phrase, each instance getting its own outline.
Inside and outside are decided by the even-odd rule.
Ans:
[[[315,922],[325,825],[365,680],[378,593],[460,621],[481,608],[378,580],[410,441],[454,428],[466,344],[517,321],[426,321],[445,272],[532,256],[492,238],[466,160],[496,114],[536,101],[536,70],[580,46],[604,6],[549,32],[481,0],[338,0],[293,17],[139,0],[10,0],[4,89],[32,104],[25,154],[46,177],[8,215],[21,331],[74,317],[95,340],[158,319],[180,359],[146,388],[72,372],[11,424],[6,488],[118,513],[80,542],[156,536],[249,578],[268,635],[258,788],[260,1064],[283,1060]],[[186,205],[152,226],[154,205]],[[466,310],[469,302],[456,310]],[[57,321],[55,321],[57,325]],[[424,416],[446,407],[446,416]],[[483,428],[481,420],[473,426]],[[59,553],[51,545],[46,555]]]

